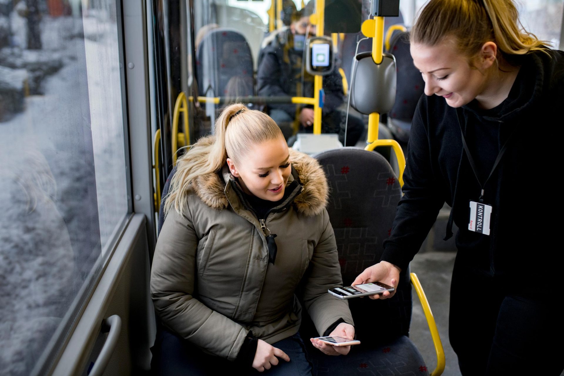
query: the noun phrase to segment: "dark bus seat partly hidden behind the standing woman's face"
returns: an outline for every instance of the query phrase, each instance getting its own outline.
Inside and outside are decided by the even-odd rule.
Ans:
[[[409,53],[409,33],[394,32],[390,50],[395,56],[398,69],[394,107],[388,113],[388,127],[394,138],[400,143],[407,143],[411,131],[411,121],[415,107],[425,89],[425,81]]]

